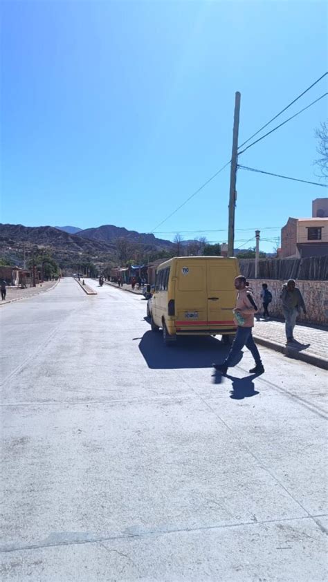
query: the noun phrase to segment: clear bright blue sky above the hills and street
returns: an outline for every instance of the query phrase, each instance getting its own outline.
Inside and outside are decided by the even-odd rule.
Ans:
[[[5,223],[152,232],[230,159],[235,91],[241,143],[327,70],[323,1],[16,0],[2,15]],[[239,163],[317,181],[325,118],[327,99]],[[228,191],[229,168],[154,234],[226,241]],[[267,251],[289,216],[327,196],[242,170],[237,192],[235,246],[259,228]]]

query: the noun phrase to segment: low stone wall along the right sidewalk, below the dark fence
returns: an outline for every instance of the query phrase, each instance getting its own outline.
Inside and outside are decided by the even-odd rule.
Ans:
[[[268,290],[272,293],[272,303],[268,306],[268,310],[273,317],[283,317],[282,302],[280,299],[280,292],[282,285],[287,281],[279,281],[277,279],[248,279],[250,287],[254,291],[257,305],[263,312],[262,303],[259,294],[262,291],[262,283],[268,284]],[[326,281],[296,281],[296,286],[302,293],[305,307],[307,308],[307,315],[302,312],[298,321],[317,323],[320,325],[328,325],[328,285]]]

